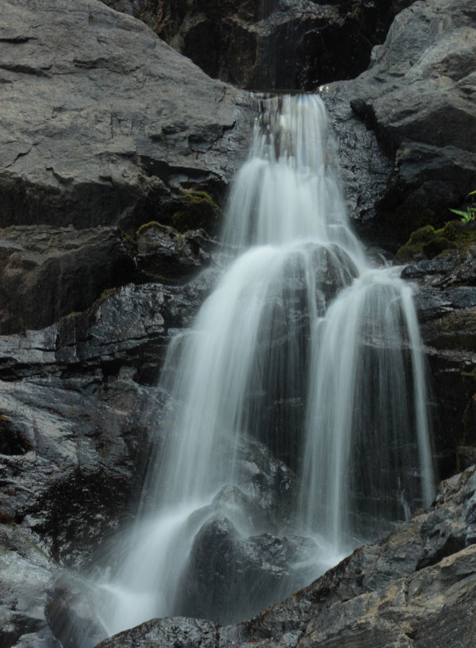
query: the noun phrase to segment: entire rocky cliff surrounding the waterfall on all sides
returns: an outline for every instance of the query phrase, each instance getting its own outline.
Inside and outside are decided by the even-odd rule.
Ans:
[[[194,199],[206,202],[206,218],[210,204],[213,219],[219,215],[253,114],[247,93],[210,79],[114,10],[137,13],[144,3],[109,4],[0,7],[3,648],[100,640],[84,583],[70,570],[89,566],[133,510],[148,422],[161,416],[153,385],[165,348],[214,280],[216,242],[169,225],[183,213],[195,222],[187,211]],[[328,23],[344,5],[330,4]],[[235,9],[242,22],[245,9],[254,11],[247,3]],[[321,7],[307,3],[306,11],[307,26],[323,38]],[[222,31],[227,20],[217,21]],[[447,208],[476,188],[475,24],[470,0],[419,1],[397,16],[369,70],[321,90],[349,207],[371,243],[395,251],[422,225],[443,229]],[[339,60],[333,40],[330,61]],[[318,54],[302,43],[317,65]],[[249,61],[251,50],[243,52]],[[231,54],[233,64],[240,60]],[[439,234],[443,247],[404,259],[404,275],[421,286],[435,455],[445,477],[475,457],[472,231]],[[251,622],[151,622],[104,645],[470,647],[475,486],[474,470],[466,470],[442,487],[433,509]]]

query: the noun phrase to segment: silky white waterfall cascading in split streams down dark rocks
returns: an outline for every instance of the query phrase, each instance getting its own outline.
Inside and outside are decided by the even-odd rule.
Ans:
[[[236,258],[169,349],[167,442],[102,586],[109,633],[251,615],[431,502],[412,291],[366,261],[328,144],[317,96],[263,101],[224,225]]]

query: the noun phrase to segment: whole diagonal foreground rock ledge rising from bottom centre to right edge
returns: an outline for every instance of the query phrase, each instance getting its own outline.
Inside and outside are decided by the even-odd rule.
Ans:
[[[473,467],[444,482],[429,511],[383,541],[358,548],[258,617],[217,627],[215,646],[469,647],[476,631],[475,489]],[[148,648],[158,645],[155,636],[164,647],[189,645],[179,628],[182,622],[151,621],[98,648]],[[201,630],[195,645],[201,636],[206,641],[209,631],[209,626]]]

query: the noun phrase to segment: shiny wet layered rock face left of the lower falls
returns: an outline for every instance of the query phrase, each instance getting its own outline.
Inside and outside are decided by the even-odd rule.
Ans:
[[[93,639],[84,583],[65,566],[87,566],[135,509],[148,433],[160,429],[152,385],[164,349],[209,290],[206,277],[127,284],[0,337],[0,645],[77,645],[81,628],[87,645],[104,636]]]

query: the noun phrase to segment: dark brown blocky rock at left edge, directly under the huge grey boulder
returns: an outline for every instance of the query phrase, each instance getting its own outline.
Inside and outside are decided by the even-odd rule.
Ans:
[[[0,230],[0,334],[40,329],[82,311],[134,271],[116,228]]]

